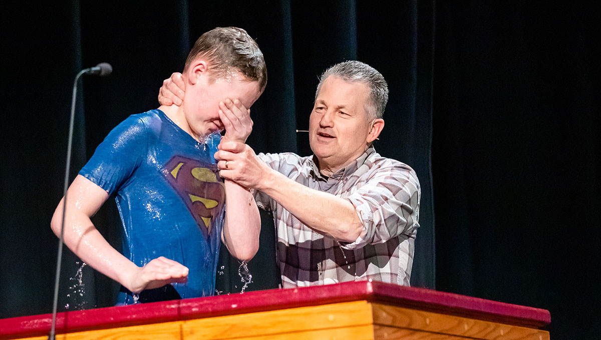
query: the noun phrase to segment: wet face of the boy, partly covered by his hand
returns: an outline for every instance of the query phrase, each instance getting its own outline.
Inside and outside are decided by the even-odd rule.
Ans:
[[[219,103],[230,98],[239,100],[246,109],[260,96],[258,82],[246,79],[241,73],[231,71],[212,79],[209,73],[193,74],[195,82],[186,82],[183,103],[184,115],[192,132],[203,136],[224,129],[219,119]]]

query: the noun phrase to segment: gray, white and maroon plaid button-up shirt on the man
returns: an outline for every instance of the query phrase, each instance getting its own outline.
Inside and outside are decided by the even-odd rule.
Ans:
[[[258,206],[273,213],[284,288],[359,280],[409,285],[421,195],[413,169],[381,157],[373,148],[329,178],[319,173],[313,157],[258,156],[298,183],[350,201],[363,224],[355,242],[337,242],[302,224],[273,198],[255,192]]]

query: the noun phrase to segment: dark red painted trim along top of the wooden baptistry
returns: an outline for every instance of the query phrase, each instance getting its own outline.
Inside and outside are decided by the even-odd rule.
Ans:
[[[425,288],[383,282],[344,282],[305,288],[249,291],[244,294],[87,309],[56,315],[56,333],[135,326],[195,318],[272,311],[327,303],[368,300],[443,314],[541,328],[551,323],[545,309],[511,305]],[[49,333],[52,314],[0,320],[0,339]]]

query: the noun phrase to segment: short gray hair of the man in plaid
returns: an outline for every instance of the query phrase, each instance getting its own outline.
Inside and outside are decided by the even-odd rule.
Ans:
[[[341,62],[328,68],[319,77],[315,100],[317,100],[317,95],[319,95],[319,91],[322,89],[323,82],[329,76],[338,77],[349,83],[359,82],[367,85],[369,94],[365,110],[367,111],[368,118],[370,121],[371,119],[382,118],[386,103],[388,102],[388,84],[382,74],[375,68],[364,62],[354,60]]]

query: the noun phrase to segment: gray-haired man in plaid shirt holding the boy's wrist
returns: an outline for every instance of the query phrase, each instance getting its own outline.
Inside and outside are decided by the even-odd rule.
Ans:
[[[174,99],[168,88],[177,74],[171,79],[159,101]],[[378,71],[342,62],[317,86],[313,157],[257,156],[243,143],[219,145],[221,176],[256,189],[257,204],[273,212],[284,288],[353,280],[409,285],[421,194],[415,171],[371,146],[387,101]]]

